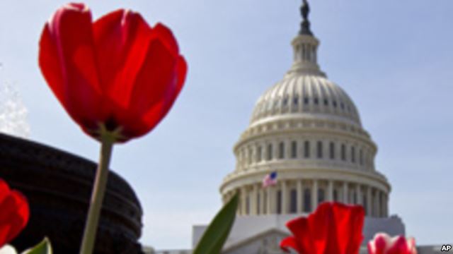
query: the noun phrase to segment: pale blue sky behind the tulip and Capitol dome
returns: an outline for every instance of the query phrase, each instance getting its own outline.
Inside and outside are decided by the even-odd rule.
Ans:
[[[172,28],[189,63],[178,101],[149,135],[115,147],[112,168],[144,209],[142,243],[188,248],[219,209],[219,184],[258,96],[291,65],[299,0],[86,1],[98,17],[139,11]],[[0,1],[1,81],[16,83],[33,140],[97,159],[98,143],[40,74],[38,40],[65,1]],[[352,97],[393,186],[391,214],[420,244],[452,242],[453,1],[311,0],[323,71]]]

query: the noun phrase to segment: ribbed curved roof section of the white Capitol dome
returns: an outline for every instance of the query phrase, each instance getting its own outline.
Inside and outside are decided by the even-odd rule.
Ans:
[[[251,124],[275,116],[325,117],[361,126],[355,104],[346,92],[323,75],[289,73],[260,96]]]

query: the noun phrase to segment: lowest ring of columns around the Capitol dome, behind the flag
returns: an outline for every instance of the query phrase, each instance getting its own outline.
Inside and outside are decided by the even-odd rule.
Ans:
[[[239,215],[309,213],[325,201],[362,205],[369,217],[388,216],[388,194],[382,189],[350,181],[323,179],[279,180],[262,188],[261,183],[224,193],[224,202],[239,191]]]

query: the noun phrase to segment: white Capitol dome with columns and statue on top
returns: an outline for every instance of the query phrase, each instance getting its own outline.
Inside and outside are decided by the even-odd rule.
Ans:
[[[309,213],[336,200],[387,217],[391,186],[374,167],[377,146],[352,99],[321,71],[307,4],[301,12],[292,66],[258,98],[234,145],[236,169],[220,186],[222,200],[239,192],[241,216]],[[274,171],[277,184],[262,188]]]

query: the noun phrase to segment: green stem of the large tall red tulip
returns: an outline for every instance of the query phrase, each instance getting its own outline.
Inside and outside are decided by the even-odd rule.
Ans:
[[[94,243],[96,240],[96,231],[98,229],[99,215],[101,214],[102,202],[107,187],[108,165],[112,155],[114,139],[111,135],[103,135],[101,138],[101,155],[99,165],[96,170],[96,179],[94,181],[93,193],[91,193],[90,208],[86,219],[84,238],[80,254],[93,253]]]

